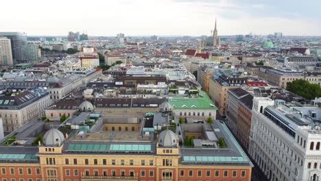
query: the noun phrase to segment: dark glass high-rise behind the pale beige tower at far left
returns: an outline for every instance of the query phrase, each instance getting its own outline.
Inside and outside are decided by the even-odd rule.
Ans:
[[[28,62],[28,42],[25,32],[0,32],[0,36],[10,39],[14,64]]]

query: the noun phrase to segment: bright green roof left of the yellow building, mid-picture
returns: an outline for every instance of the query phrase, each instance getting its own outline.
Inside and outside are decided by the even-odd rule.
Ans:
[[[200,97],[196,98],[181,98],[181,97],[169,97],[169,104],[174,109],[210,109],[217,110],[213,101],[206,95],[206,93],[200,90]]]

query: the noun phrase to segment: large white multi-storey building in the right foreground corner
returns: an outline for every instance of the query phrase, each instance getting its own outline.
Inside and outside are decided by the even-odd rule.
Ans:
[[[269,180],[319,180],[321,108],[254,97],[250,155]],[[321,179],[321,178],[320,178]]]

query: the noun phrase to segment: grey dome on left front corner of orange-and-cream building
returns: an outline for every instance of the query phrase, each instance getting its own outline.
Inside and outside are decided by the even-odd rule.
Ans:
[[[43,143],[47,146],[56,146],[64,141],[64,134],[56,128],[51,128],[43,136]]]

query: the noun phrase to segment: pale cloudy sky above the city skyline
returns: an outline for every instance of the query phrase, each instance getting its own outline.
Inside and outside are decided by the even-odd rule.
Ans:
[[[0,32],[29,36],[209,36],[215,19],[219,36],[321,36],[321,0],[11,0],[1,7]]]

